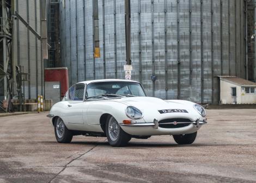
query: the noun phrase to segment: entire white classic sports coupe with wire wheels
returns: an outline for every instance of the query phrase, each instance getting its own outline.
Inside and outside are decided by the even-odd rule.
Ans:
[[[131,138],[155,135],[191,144],[207,123],[205,115],[197,103],[148,97],[137,81],[94,80],[70,87],[47,117],[60,143],[70,143],[74,135],[100,136],[120,147]]]

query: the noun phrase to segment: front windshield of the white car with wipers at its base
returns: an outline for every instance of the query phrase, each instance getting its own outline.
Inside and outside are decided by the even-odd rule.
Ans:
[[[109,97],[146,96],[141,84],[135,82],[96,82],[86,89],[86,99]]]

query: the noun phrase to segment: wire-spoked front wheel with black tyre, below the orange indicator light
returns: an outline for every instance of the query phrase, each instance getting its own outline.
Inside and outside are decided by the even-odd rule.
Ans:
[[[123,131],[118,124],[118,121],[109,116],[106,121],[107,140],[113,147],[123,147],[131,140],[131,136]]]

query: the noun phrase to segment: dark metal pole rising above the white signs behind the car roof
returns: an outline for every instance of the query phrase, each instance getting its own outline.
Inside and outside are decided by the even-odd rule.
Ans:
[[[126,65],[131,65],[131,4],[125,0]]]

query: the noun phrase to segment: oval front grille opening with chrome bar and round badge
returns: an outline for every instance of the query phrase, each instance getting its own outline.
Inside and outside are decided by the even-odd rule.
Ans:
[[[174,122],[176,121],[176,125]],[[191,124],[190,119],[185,118],[172,118],[172,119],[163,119],[159,121],[159,127],[166,128],[166,129],[176,129],[179,127],[185,127]]]

